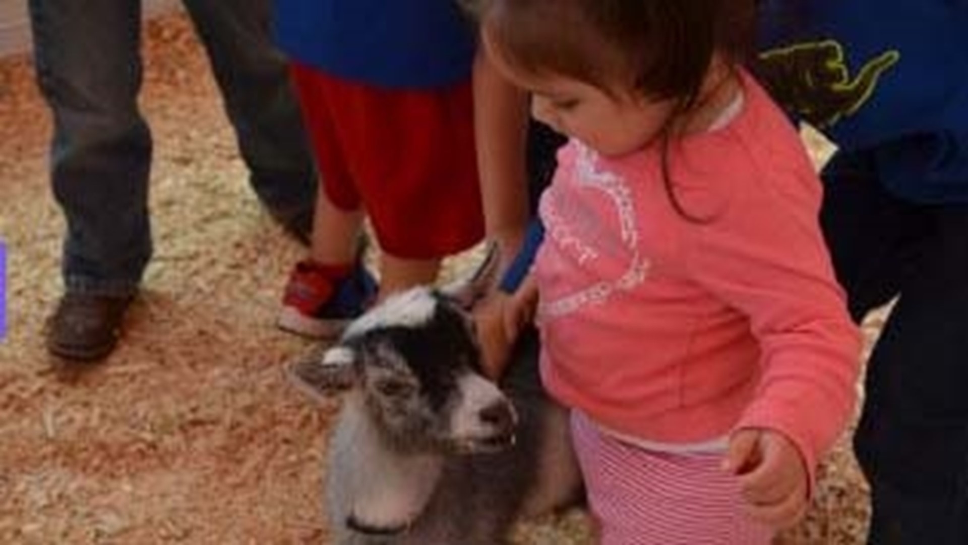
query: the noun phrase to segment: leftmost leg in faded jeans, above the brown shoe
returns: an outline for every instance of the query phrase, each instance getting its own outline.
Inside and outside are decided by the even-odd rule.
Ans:
[[[53,113],[51,182],[67,219],[66,289],[136,291],[151,256],[151,136],[137,109],[140,6],[30,0],[38,82]]]

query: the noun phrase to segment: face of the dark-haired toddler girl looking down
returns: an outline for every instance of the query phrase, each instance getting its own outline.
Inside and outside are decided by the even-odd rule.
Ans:
[[[671,101],[649,101],[631,90],[606,93],[566,76],[522,74],[499,55],[491,59],[505,78],[531,93],[536,119],[605,156],[624,155],[654,142],[674,108]]]

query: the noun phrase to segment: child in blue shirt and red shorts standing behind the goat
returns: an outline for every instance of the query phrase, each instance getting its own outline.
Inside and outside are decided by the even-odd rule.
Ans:
[[[281,0],[276,30],[322,177],[279,326],[333,337],[378,291],[358,261],[365,216],[381,296],[434,282],[442,258],[483,236],[473,28],[439,0]]]

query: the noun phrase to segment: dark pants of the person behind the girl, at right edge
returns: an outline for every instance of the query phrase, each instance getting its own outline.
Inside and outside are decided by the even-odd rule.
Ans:
[[[898,298],[855,435],[869,542],[968,544],[968,205],[897,199],[862,153],[836,155],[824,179],[823,228],[852,315]]]

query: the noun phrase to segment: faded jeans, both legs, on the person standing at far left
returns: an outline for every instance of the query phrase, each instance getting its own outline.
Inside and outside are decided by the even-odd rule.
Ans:
[[[185,0],[258,198],[281,221],[312,213],[317,176],[269,0]],[[65,288],[133,294],[151,257],[151,133],[137,108],[136,0],[30,0],[38,83],[53,112],[51,182],[67,218]]]

